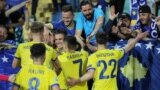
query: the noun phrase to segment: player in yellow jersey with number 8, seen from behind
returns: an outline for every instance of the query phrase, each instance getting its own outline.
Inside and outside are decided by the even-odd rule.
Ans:
[[[46,49],[42,43],[32,45],[33,64],[21,68],[12,90],[60,90],[56,73],[43,65]]]

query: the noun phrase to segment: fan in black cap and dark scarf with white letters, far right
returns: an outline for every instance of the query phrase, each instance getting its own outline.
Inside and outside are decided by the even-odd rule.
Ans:
[[[156,21],[152,18],[151,9],[147,5],[139,8],[139,20],[133,30],[137,33],[146,32],[148,38],[157,39],[160,36],[160,31]]]

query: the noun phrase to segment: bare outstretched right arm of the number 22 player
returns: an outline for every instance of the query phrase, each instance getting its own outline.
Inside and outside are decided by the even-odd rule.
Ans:
[[[144,37],[146,37],[146,35],[147,35],[146,33],[147,33],[147,32],[139,33],[139,34],[137,35],[137,37],[135,37],[134,39],[130,39],[130,40],[128,41],[127,45],[124,47],[125,53],[127,53],[128,51],[130,51],[130,50],[136,45],[136,43],[137,43],[139,40],[141,40],[141,39],[143,39]]]

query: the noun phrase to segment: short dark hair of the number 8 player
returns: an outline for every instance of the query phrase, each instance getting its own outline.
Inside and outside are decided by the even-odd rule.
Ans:
[[[33,44],[30,48],[30,52],[32,57],[39,58],[45,55],[46,47],[43,43]]]

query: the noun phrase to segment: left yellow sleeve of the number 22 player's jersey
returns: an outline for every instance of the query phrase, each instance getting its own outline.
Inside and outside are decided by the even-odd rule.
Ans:
[[[96,61],[93,55],[89,56],[87,63],[87,70],[95,70],[96,69]]]

